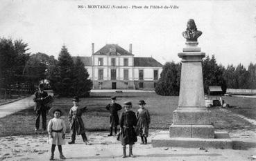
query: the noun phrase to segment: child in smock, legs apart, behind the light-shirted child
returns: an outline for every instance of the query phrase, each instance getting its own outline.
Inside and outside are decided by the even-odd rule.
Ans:
[[[85,144],[89,144],[85,135],[85,125],[83,124],[83,119],[81,117],[86,110],[86,106],[84,108],[78,107],[79,98],[77,96],[74,97],[72,101],[74,106],[71,107],[68,117],[71,132],[71,141],[69,144],[75,144],[76,135],[82,135],[83,142],[85,142]]]

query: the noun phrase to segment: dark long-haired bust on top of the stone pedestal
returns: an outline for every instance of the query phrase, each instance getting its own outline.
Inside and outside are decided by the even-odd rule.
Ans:
[[[197,41],[197,38],[202,35],[203,32],[197,30],[194,19],[187,21],[187,30],[182,32],[182,35],[187,41]]]

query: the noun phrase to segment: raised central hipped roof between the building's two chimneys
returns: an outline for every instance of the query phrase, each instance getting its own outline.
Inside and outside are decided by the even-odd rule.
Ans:
[[[106,44],[93,55],[133,55],[127,50],[121,48],[117,44]]]

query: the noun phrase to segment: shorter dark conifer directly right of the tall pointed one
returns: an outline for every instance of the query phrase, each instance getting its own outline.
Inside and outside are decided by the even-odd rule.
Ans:
[[[85,69],[85,65],[80,57],[76,57],[74,73],[74,90],[76,95],[79,97],[89,96],[89,91],[92,89],[92,81],[88,79],[89,73]]]

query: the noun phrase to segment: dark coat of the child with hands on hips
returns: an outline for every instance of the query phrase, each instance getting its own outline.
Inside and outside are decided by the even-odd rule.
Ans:
[[[118,111],[121,110],[121,105],[117,103],[108,104],[105,108],[110,111],[110,126],[117,126],[119,124]]]

